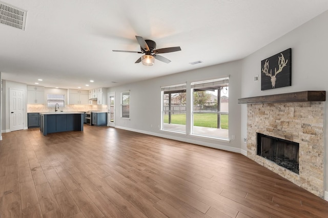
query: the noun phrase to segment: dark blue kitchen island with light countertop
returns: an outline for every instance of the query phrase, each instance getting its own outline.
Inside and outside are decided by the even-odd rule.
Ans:
[[[40,131],[43,135],[55,132],[83,131],[83,112],[40,113]]]

